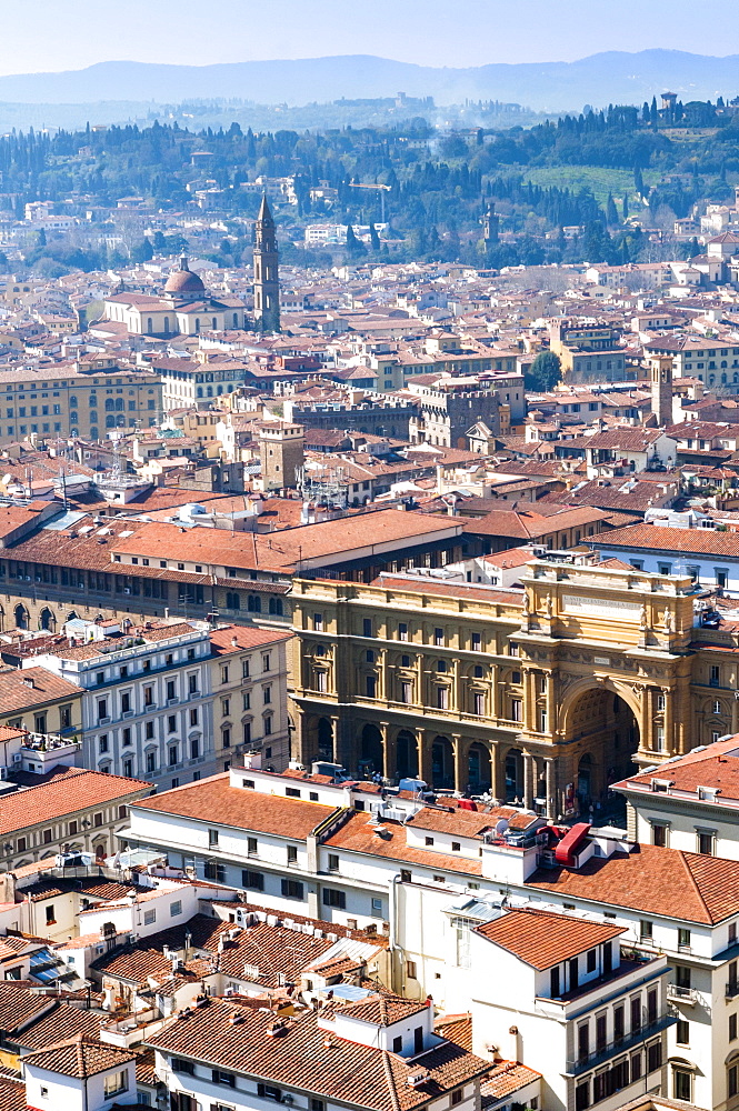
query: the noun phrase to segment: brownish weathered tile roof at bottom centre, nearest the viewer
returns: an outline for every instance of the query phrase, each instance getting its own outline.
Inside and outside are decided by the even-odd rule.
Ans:
[[[289,1019],[284,1033],[270,1038],[267,1029],[273,1021],[271,1013],[209,999],[187,1021],[170,1020],[150,1044],[370,1111],[412,1111],[490,1068],[490,1062],[459,1045],[442,1042],[423,1054],[428,1079],[416,1087],[408,1078],[419,1070],[418,1062],[337,1038],[330,1028],[319,1025],[313,1011]]]

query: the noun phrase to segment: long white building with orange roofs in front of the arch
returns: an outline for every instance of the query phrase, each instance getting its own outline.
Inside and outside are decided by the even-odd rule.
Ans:
[[[613,831],[576,833],[561,855],[541,819],[511,808],[383,802],[371,784],[249,768],[143,800],[121,837],[274,913],[375,922],[396,953],[396,990],[431,993],[451,1012],[477,998],[471,934],[503,902],[606,921],[639,953],[665,953],[673,970],[667,997],[681,1017],[667,1034],[665,1094],[689,1090],[700,1107],[723,1109],[739,1059],[739,992],[727,995],[739,981],[739,862],[638,845]],[[607,1062],[619,1057],[615,1041]]]

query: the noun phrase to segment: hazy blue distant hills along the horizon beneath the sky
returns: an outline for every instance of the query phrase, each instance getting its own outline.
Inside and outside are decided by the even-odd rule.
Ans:
[[[678,50],[611,51],[576,62],[435,69],[369,54],[222,66],[100,62],[61,73],[0,77],[0,101],[74,104],[241,98],[306,104],[346,98],[433,97],[439,104],[516,101],[545,111],[580,111],[586,103],[641,104],[671,90],[688,100],[739,93],[739,54],[710,58]]]

